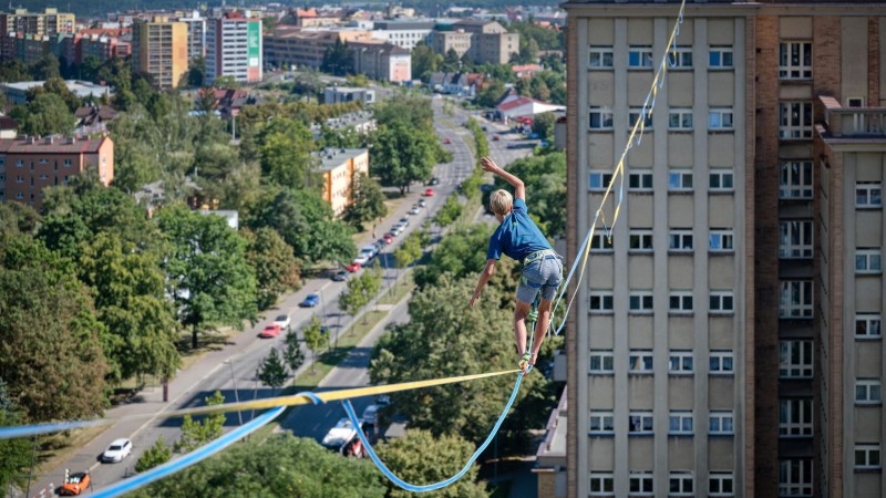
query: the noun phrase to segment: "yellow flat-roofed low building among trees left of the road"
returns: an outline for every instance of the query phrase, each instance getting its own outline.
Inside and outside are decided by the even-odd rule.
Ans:
[[[353,178],[363,173],[369,175],[369,149],[326,148],[317,153],[320,173],[323,176],[323,200],[329,203],[336,216],[344,212],[351,205]]]

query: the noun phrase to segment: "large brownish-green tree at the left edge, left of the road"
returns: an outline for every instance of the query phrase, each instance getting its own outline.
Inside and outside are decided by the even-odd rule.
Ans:
[[[24,422],[104,407],[105,357],[89,289],[30,236],[0,235],[0,373]]]

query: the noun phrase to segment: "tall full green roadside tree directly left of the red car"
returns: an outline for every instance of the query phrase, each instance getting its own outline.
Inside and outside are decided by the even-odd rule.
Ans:
[[[214,325],[243,326],[256,314],[256,278],[246,260],[246,240],[224,218],[192,212],[182,205],[157,212],[172,243],[164,263],[167,292],[178,321],[190,328],[193,349]]]

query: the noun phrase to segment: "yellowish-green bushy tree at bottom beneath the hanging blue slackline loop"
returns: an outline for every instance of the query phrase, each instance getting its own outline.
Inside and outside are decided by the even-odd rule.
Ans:
[[[375,448],[379,458],[398,477],[406,483],[439,483],[455,475],[471,458],[476,448],[457,434],[434,437],[427,430],[409,429],[403,437],[381,443]],[[480,466],[474,465],[467,473],[440,491],[429,496],[440,498],[486,498],[486,486],[477,481]],[[406,498],[412,492],[385,480],[388,498]]]

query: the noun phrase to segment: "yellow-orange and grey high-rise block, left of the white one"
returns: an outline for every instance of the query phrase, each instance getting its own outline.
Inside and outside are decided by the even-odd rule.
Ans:
[[[154,77],[159,89],[175,89],[187,72],[187,25],[166,17],[132,24],[132,68]]]

